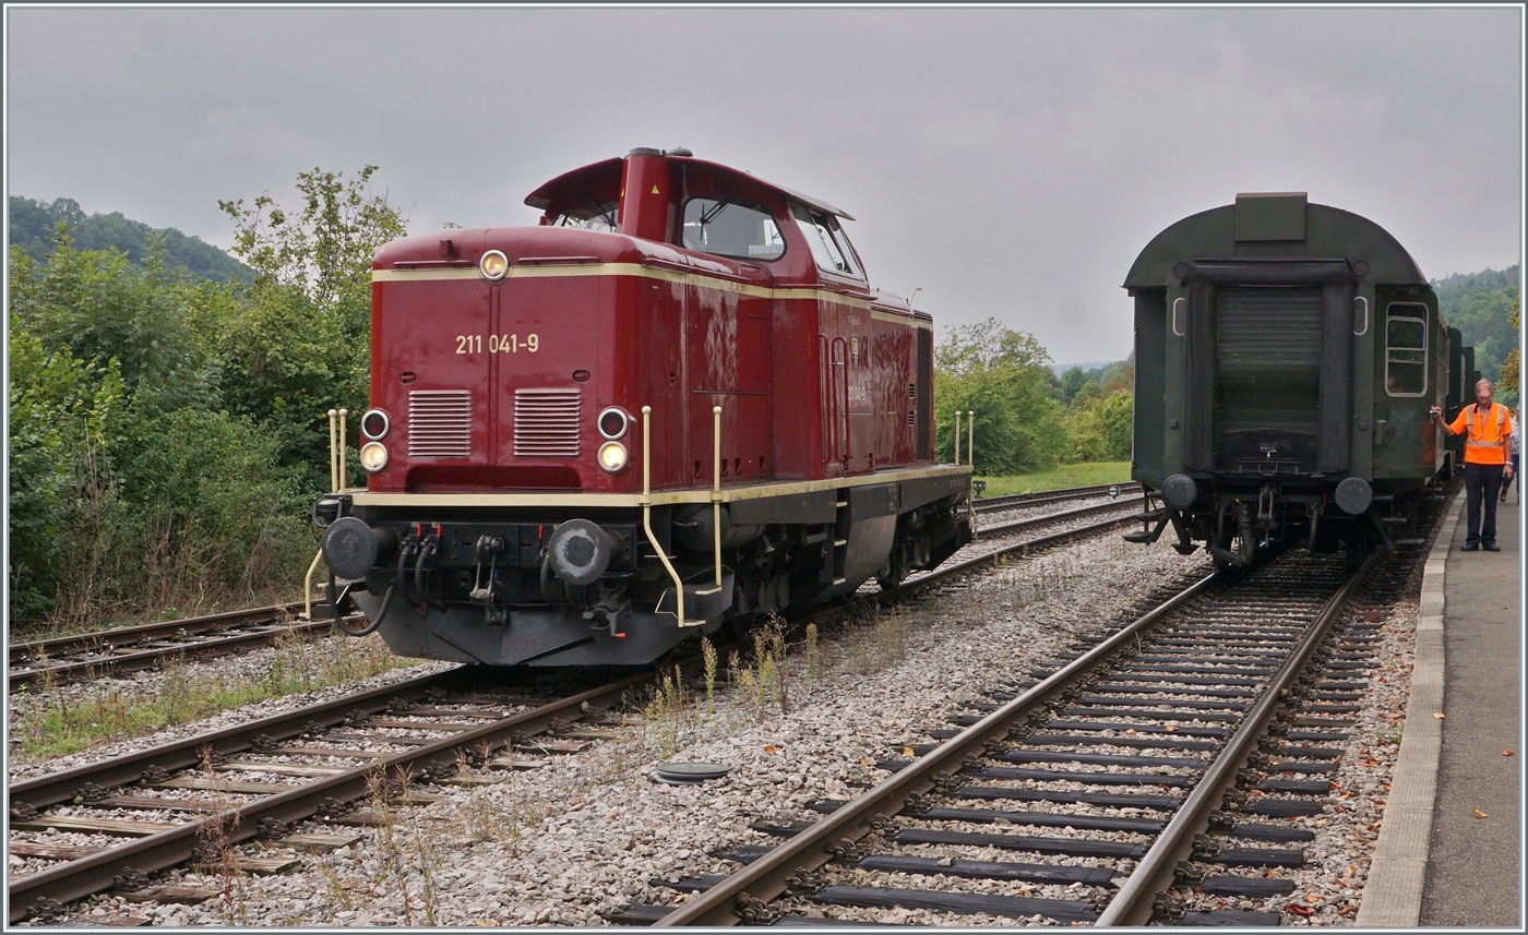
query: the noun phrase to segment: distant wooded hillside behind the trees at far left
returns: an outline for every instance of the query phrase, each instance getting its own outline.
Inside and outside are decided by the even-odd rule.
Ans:
[[[174,228],[163,231],[142,222],[112,214],[90,214],[73,199],[58,199],[52,205],[11,196],[11,244],[26,255],[41,260],[53,251],[53,237],[60,223],[69,225],[69,235],[81,251],[105,251],[116,247],[133,263],[142,263],[148,238],[162,234],[165,255],[171,269],[185,267],[194,277],[219,283],[229,278],[249,281],[249,270],[200,237],[186,237]]]

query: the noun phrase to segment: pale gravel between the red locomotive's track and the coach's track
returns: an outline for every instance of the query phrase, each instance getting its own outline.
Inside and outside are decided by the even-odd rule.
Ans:
[[[770,843],[749,830],[750,822],[811,817],[808,802],[853,798],[885,778],[872,765],[877,759],[900,753],[906,744],[926,742],[926,730],[984,701],[983,692],[1025,678],[1030,668],[1071,643],[1077,631],[1128,614],[1166,579],[1206,567],[1203,556],[1184,559],[1166,542],[1140,547],[1105,535],[1015,559],[995,573],[935,585],[915,602],[883,613],[879,622],[868,622],[869,611],[862,611],[850,614],[843,625],[824,626],[810,674],[798,648],[788,665],[787,713],[778,704],[758,704],[758,694],[746,684],[732,691],[718,684],[707,715],[704,688],[691,686],[694,704],[666,712],[649,707],[648,718],[633,718],[643,723],[581,753],[552,756],[547,765],[529,772],[497,773],[504,781],[495,784],[432,787],[429,791],[443,794],[443,801],[397,810],[390,831],[359,830],[359,845],[324,856],[299,854],[280,840],[244,849],[299,856],[303,866],[295,872],[223,880],[191,869],[170,871],[167,882],[229,895],[200,906],[159,906],[154,920],[587,926],[604,924],[601,912],[634,901],[677,903],[688,897],[651,888],[649,880],[735,869],[711,851],[730,843]],[[416,674],[419,669],[379,678]],[[258,715],[339,691],[266,703],[257,706]],[[258,715],[229,712],[215,724]],[[186,726],[163,738],[156,735],[154,741],[211,726]],[[136,744],[115,747],[130,746]],[[102,749],[60,759],[83,762],[107,755]],[[701,785],[666,785],[652,778],[652,765],[669,758],[721,762],[733,770]],[[47,768],[63,768],[61,761],[50,761]],[[1033,805],[1015,808],[1033,811]],[[303,827],[310,828],[312,822]],[[972,851],[964,848],[960,856],[976,856]],[[1007,859],[1015,857],[1010,852]],[[1001,883],[999,891],[1019,892],[1012,886]],[[1050,895],[1067,888],[1028,889],[1031,895]],[[1057,898],[1076,898],[1076,892]],[[112,894],[92,897],[87,906],[87,912],[104,907],[107,915],[144,914],[144,904]],[[834,907],[831,914],[944,924],[981,921],[920,911]]]

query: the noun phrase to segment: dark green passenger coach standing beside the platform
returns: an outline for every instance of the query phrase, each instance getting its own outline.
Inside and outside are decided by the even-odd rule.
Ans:
[[[1452,419],[1479,374],[1389,232],[1303,192],[1239,194],[1152,238],[1125,289],[1148,489],[1128,539],[1172,527],[1236,567],[1279,541],[1357,558],[1406,536],[1458,458],[1427,411]]]

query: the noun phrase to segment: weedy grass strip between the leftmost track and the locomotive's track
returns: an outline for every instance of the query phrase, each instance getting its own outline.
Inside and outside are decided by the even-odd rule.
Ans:
[[[240,677],[191,678],[185,662],[171,662],[153,694],[133,686],[102,686],[75,697],[67,688],[40,686],[29,698],[14,698],[12,744],[26,756],[61,756],[95,744],[142,736],[188,724],[223,710],[370,678],[416,665],[393,655],[377,637],[341,634],[318,640],[287,637],[277,643],[263,672]]]

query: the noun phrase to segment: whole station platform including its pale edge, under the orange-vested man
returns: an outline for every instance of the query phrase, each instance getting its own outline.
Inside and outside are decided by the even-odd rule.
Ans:
[[[1406,729],[1357,923],[1522,930],[1522,507],[1461,552],[1459,490],[1427,559]],[[1442,718],[1436,715],[1442,713]],[[1510,752],[1510,753],[1508,753]]]

